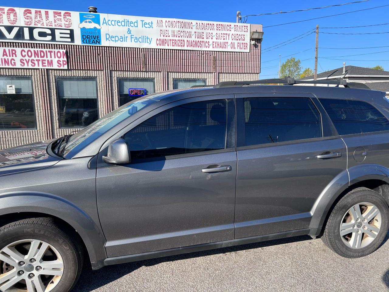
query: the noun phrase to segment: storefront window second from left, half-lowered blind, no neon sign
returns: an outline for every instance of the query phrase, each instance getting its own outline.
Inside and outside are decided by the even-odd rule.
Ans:
[[[95,78],[57,78],[61,128],[86,127],[98,119]]]

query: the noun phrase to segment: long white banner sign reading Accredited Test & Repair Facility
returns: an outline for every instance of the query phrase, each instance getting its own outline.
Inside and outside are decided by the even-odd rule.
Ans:
[[[249,52],[250,25],[0,6],[0,40]]]

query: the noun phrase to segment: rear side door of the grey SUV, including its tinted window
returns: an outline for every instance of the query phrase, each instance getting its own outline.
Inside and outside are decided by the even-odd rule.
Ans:
[[[345,144],[310,94],[237,95],[235,237],[308,228],[311,209],[347,167]]]

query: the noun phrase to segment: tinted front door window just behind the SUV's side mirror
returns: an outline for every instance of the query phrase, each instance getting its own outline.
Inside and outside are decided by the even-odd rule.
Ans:
[[[123,137],[131,159],[224,149],[226,107],[226,100],[193,102],[149,118]]]

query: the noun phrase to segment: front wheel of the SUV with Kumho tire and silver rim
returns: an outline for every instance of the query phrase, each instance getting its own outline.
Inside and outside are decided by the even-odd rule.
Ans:
[[[0,290],[40,285],[43,291],[67,292],[80,276],[83,259],[79,239],[51,218],[23,219],[0,228]]]

